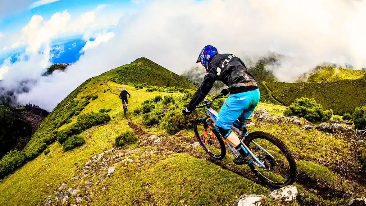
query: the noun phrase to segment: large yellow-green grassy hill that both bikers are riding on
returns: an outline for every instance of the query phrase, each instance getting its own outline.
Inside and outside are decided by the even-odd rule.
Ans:
[[[171,86],[194,88],[184,79],[179,83],[181,77],[162,68],[140,58],[90,78],[71,92],[21,151],[26,163],[0,180],[0,205],[45,205],[49,196],[53,205],[234,205],[240,195],[266,195],[272,191],[248,166],[234,165],[229,152],[222,161],[215,161],[202,147],[192,146],[197,140],[184,122],[204,111],[181,115],[189,91],[148,92],[150,88],[133,85],[165,87],[169,80]],[[144,78],[148,70],[160,76]],[[127,77],[131,82],[126,82]],[[131,94],[127,117],[118,97],[122,88]],[[266,103],[259,103],[257,108],[275,115],[286,109]],[[100,114],[101,109],[111,109],[102,113],[110,120],[84,127],[78,135],[85,143],[65,151],[56,141],[57,135],[75,126],[81,116]],[[145,114],[135,113],[140,109]],[[155,123],[145,121],[154,115]],[[91,124],[91,120],[82,123]],[[357,178],[363,172],[362,162],[358,161],[362,148],[343,138],[344,134],[326,135],[316,129],[303,130],[296,124],[256,120],[248,129],[279,137],[294,153],[299,168],[299,179],[294,184],[298,199],[279,203],[264,198],[262,205],[346,205],[350,199],[365,195],[364,181]],[[116,137],[127,131],[134,133],[133,141],[123,147],[114,146]],[[48,151],[46,148],[49,153],[42,153]],[[0,170],[4,166],[1,161]],[[59,192],[69,194],[64,204],[60,196],[55,201]]]

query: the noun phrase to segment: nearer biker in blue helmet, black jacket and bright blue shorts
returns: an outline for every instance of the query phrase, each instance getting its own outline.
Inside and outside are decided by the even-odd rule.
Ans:
[[[240,153],[239,157],[234,159],[235,164],[251,163],[253,158],[230,126],[236,119],[249,118],[259,102],[260,93],[254,77],[248,72],[242,60],[232,54],[219,54],[212,45],[202,49],[196,63],[198,62],[201,62],[207,73],[187,108],[182,111],[183,115],[192,113],[212,89],[216,80],[222,81],[229,88],[221,92],[225,96],[230,92],[230,95],[219,111],[216,130]],[[243,136],[247,134],[247,129],[243,125]]]

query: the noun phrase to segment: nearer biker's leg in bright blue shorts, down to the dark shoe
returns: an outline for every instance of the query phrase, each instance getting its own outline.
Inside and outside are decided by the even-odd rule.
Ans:
[[[255,108],[258,102],[258,89],[249,92],[231,94],[225,100],[219,111],[216,126],[221,135],[229,141],[229,143],[232,144],[232,146],[234,146],[241,155],[234,159],[234,163],[236,164],[250,163],[253,159],[243,147],[239,137],[234,132],[231,132],[232,130],[230,130],[230,126],[244,113],[244,111],[249,110],[249,108],[251,110],[252,107]],[[253,110],[251,112],[253,112]],[[245,112],[246,115],[247,113],[249,112]]]

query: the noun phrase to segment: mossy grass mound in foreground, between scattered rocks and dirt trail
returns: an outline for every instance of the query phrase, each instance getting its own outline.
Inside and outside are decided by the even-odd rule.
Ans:
[[[141,170],[132,163],[117,169],[102,183],[111,190],[97,194],[94,205],[149,205],[152,201],[158,205],[232,205],[242,194],[269,192],[250,180],[187,154],[153,158],[157,162]]]

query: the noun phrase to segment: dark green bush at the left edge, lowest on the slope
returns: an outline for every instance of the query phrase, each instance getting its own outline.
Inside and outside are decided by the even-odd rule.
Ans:
[[[22,151],[11,150],[0,160],[0,179],[14,172],[26,161],[26,155]]]

